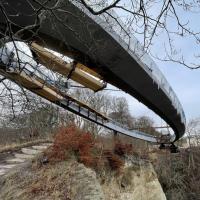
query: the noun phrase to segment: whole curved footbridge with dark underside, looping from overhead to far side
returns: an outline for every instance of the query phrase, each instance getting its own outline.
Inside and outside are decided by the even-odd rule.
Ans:
[[[175,133],[170,142],[183,136],[186,119],[176,94],[153,60],[143,52],[137,39],[129,37],[125,26],[120,26],[111,17],[117,17],[114,12],[94,16],[82,4],[69,0],[18,0],[17,3],[15,0],[4,0],[2,8],[1,38],[9,36],[10,28],[15,33],[15,40],[35,41],[42,47],[73,58],[162,117]],[[41,9],[36,16],[35,10],[38,8]],[[18,83],[19,79],[13,78],[3,67],[1,73]],[[31,90],[27,83],[23,86]],[[44,97],[43,94],[39,95]],[[89,113],[95,114],[88,115],[88,108],[83,111],[85,108],[80,109],[79,103],[76,105],[78,107],[73,107],[74,104],[69,104],[66,99],[65,96],[62,100],[50,101],[117,132],[157,142],[153,136],[130,131],[108,118],[106,122],[103,121],[96,111],[90,110]],[[77,103],[75,100],[73,102]]]

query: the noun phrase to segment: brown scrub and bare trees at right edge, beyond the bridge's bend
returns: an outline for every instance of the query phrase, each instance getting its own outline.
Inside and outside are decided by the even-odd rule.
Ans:
[[[186,136],[178,142],[179,153],[163,150],[153,156],[154,168],[169,200],[200,199],[199,124],[199,118],[188,122]]]

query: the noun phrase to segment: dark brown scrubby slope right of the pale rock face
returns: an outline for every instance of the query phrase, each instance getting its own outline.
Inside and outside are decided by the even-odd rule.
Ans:
[[[199,147],[192,147],[178,154],[157,154],[153,163],[167,199],[200,199],[199,153]]]

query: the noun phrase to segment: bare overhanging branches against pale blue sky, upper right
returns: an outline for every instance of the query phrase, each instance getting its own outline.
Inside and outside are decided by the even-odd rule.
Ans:
[[[187,60],[176,40],[191,40],[199,45],[200,30],[193,25],[199,17],[198,1],[155,1],[155,0],[79,0],[93,15],[108,15],[124,30],[127,37],[141,38],[144,49],[159,60],[171,61],[190,69],[199,68],[198,52],[193,62]],[[119,14],[119,17],[113,12]],[[125,26],[124,26],[125,24]],[[164,38],[164,40],[163,40]],[[155,54],[152,47],[162,41],[164,56]],[[159,51],[160,53],[160,51]]]

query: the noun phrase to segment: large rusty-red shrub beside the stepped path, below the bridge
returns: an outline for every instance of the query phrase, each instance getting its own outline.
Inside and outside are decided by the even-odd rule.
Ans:
[[[62,127],[55,135],[54,144],[48,152],[51,160],[66,160],[75,156],[86,166],[92,166],[95,157],[95,139],[90,133],[86,133],[71,125]]]

